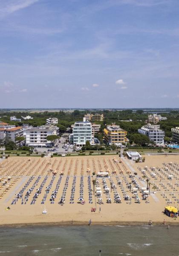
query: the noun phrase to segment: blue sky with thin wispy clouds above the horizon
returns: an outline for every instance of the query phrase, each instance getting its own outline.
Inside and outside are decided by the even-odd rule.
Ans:
[[[178,0],[0,0],[0,108],[179,107]]]

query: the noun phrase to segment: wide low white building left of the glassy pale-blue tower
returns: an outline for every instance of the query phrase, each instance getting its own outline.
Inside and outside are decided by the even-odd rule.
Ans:
[[[55,127],[35,127],[25,131],[26,145],[36,147],[51,147],[52,143],[46,140],[49,135],[57,135]]]

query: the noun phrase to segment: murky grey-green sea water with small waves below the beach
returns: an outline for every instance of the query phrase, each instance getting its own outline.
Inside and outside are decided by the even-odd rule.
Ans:
[[[0,256],[179,256],[179,227],[1,227]]]

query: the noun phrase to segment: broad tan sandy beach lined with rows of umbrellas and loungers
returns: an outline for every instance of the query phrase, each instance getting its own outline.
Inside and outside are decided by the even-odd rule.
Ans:
[[[103,225],[147,224],[149,220],[154,224],[160,224],[164,219],[167,224],[179,224],[179,218],[169,218],[163,213],[167,203],[171,202],[170,205],[178,208],[178,156],[146,155],[145,158],[145,163],[135,163],[126,158],[121,159],[118,155],[31,157],[30,160],[28,157],[9,157],[8,160],[0,162],[0,225],[87,225],[89,219],[92,220],[92,224]],[[142,200],[139,190],[139,204],[133,198],[134,184],[131,184],[131,192],[127,186],[131,182],[130,175],[137,172],[135,177],[137,183],[141,187],[147,187],[143,170],[150,178],[150,195],[147,198],[150,203]],[[56,172],[55,175],[53,171]],[[100,171],[109,172],[105,182],[110,195],[105,193],[102,178],[97,179],[98,184],[93,192],[92,180],[95,177],[92,177],[92,173],[97,174]],[[152,173],[155,175],[153,176]],[[168,180],[168,175],[173,175],[172,180]],[[115,184],[114,189],[111,188],[110,182]],[[156,186],[155,189],[153,189],[154,186]],[[49,187],[48,192],[47,187]],[[96,187],[101,187],[103,204],[98,204]],[[32,192],[26,201],[26,193],[31,188]],[[81,197],[80,188],[83,190],[84,204],[78,200]],[[34,201],[33,197],[38,189],[40,194]],[[50,201],[52,192],[55,190],[56,198]],[[156,193],[153,193],[154,190]],[[20,191],[22,195],[17,198]],[[121,198],[120,204],[115,203],[115,193],[118,193]],[[65,202],[61,205],[59,202],[62,195],[65,197]],[[128,195],[131,200],[125,201],[124,195]],[[111,204],[107,204],[109,197],[112,200]],[[10,209],[7,210],[7,207]],[[47,214],[42,214],[44,208]],[[96,208],[95,212],[91,212],[91,208]]]

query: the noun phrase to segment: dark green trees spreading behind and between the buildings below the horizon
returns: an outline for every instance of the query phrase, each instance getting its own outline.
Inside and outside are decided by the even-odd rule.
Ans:
[[[57,112],[40,112],[40,113],[29,113],[29,112],[3,112],[0,113],[0,121],[7,122],[9,124],[14,124],[16,126],[22,124],[29,124],[32,126],[40,126],[46,124],[46,119],[49,117],[57,117],[58,118],[58,127],[60,128],[60,132],[63,133],[66,131],[66,128],[71,127],[72,124],[76,121],[82,121],[84,114],[87,111],[57,111]],[[129,140],[136,141],[139,140],[138,129],[141,128],[142,125],[145,125],[145,120],[148,118],[149,113],[144,113],[142,110],[137,110],[133,112],[132,110],[123,110],[123,111],[95,111],[91,113],[103,113],[104,121],[96,122],[101,124],[100,134],[98,135],[98,139],[102,142],[103,139],[103,129],[107,124],[115,123],[116,125],[120,125],[121,128],[127,131],[127,137]],[[159,113],[160,114],[160,113]],[[21,118],[21,116],[30,115],[33,119],[24,120],[21,119],[21,122],[10,121],[10,116],[16,116],[17,118]],[[165,131],[165,136],[167,140],[171,140],[171,128],[179,126],[179,111],[170,111],[170,113],[161,113],[162,116],[167,116],[167,120],[163,120],[159,122],[160,128]],[[132,122],[125,122],[125,120],[132,119]],[[124,121],[122,121],[124,120]],[[135,136],[134,136],[135,135]],[[146,138],[144,139],[146,140]],[[148,143],[147,141],[143,141],[143,143]]]

